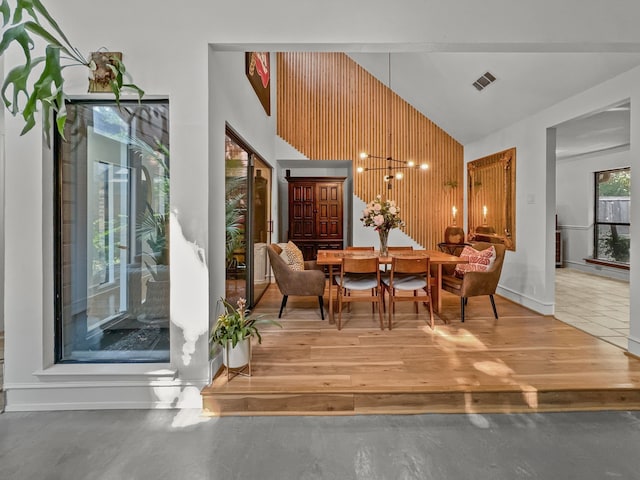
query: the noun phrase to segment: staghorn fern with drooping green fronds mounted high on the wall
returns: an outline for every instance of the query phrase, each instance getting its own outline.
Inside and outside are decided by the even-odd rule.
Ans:
[[[25,125],[21,135],[31,130],[36,124],[38,104],[42,108],[44,117],[44,133],[47,144],[50,141],[51,113],[56,112],[56,124],[60,135],[64,137],[64,126],[67,121],[65,109],[63,71],[68,67],[81,66],[87,68],[90,77],[98,70],[93,57],[85,58],[74,47],[64,34],[58,22],[49,14],[40,0],[17,0],[11,8],[8,0],[0,3],[3,34],[0,40],[0,56],[7,49],[15,45],[24,53],[24,64],[11,69],[5,76],[0,93],[7,110],[13,115],[22,114]],[[7,27],[7,25],[9,25]],[[32,57],[31,51],[35,47],[34,38],[44,40],[44,56]],[[133,83],[125,83],[127,70],[118,56],[103,53],[106,56],[103,67],[111,71],[111,75],[98,79],[108,82],[111,91],[119,103],[123,89],[131,89],[142,98],[144,91]],[[36,75],[39,76],[36,77]],[[8,90],[11,89],[11,96]],[[23,94],[27,100],[21,108],[19,97]]]

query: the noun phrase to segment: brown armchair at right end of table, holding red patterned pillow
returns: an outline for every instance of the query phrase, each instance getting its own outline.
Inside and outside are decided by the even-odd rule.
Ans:
[[[460,317],[463,322],[464,307],[467,304],[467,299],[480,295],[489,295],[491,307],[493,307],[493,315],[497,319],[498,311],[496,310],[493,295],[496,293],[498,281],[500,280],[506,248],[504,245],[488,242],[474,242],[470,245],[476,250],[484,250],[493,245],[496,249],[496,259],[493,265],[486,272],[467,272],[463,278],[458,278],[453,273],[445,274],[442,276],[442,289],[460,297]]]

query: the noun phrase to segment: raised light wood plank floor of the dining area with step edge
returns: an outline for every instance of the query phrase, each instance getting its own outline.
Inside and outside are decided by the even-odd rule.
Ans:
[[[271,286],[254,310],[277,318]],[[640,359],[553,317],[496,297],[445,294],[436,327],[426,309],[398,305],[381,331],[367,304],[343,329],[321,321],[313,297],[290,297],[283,328],[263,329],[253,376],[218,375],[202,391],[210,415],[353,415],[640,409]],[[444,321],[448,322],[447,324]]]

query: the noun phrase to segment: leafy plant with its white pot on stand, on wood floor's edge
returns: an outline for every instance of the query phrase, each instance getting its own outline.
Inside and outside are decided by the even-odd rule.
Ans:
[[[209,336],[209,346],[213,356],[218,346],[222,347],[222,363],[230,368],[240,368],[250,364],[251,361],[251,337],[256,337],[258,343],[262,343],[262,336],[258,330],[260,324],[271,324],[282,327],[278,322],[270,319],[251,317],[247,314],[247,301],[244,298],[238,300],[238,308],[235,308],[225,299],[220,303],[224,312],[216,320],[216,324]]]

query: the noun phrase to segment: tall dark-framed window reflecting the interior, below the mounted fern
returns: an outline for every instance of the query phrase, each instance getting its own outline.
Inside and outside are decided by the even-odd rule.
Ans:
[[[71,102],[56,139],[57,362],[169,361],[169,105]]]

